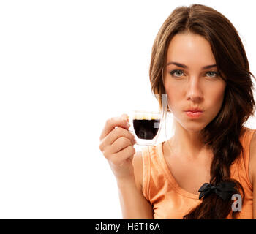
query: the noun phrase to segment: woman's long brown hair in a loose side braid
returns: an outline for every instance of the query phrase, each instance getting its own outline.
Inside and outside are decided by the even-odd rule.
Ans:
[[[243,187],[230,178],[230,165],[243,151],[239,140],[243,124],[255,112],[251,79],[255,77],[249,72],[244,46],[233,24],[217,10],[201,4],[177,7],[163,23],[152,48],[149,78],[153,94],[166,94],[163,74],[167,47],[176,34],[184,32],[199,34],[208,40],[217,70],[227,84],[221,110],[201,131],[204,143],[212,148],[214,154],[210,184],[233,181],[237,193],[244,200]],[[158,102],[162,109],[162,99],[158,98]],[[170,110],[167,107],[163,111]],[[189,211],[184,219],[225,219],[230,214],[231,206],[231,195],[225,202],[216,194],[211,194],[203,197],[202,203]],[[232,212],[233,219],[237,218],[237,214]]]

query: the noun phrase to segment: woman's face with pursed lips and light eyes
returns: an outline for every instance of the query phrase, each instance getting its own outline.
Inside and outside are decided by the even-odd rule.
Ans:
[[[219,113],[226,87],[218,75],[211,45],[197,34],[176,34],[166,61],[164,85],[173,116],[185,129],[199,132]],[[192,108],[202,113],[189,116],[187,110]]]

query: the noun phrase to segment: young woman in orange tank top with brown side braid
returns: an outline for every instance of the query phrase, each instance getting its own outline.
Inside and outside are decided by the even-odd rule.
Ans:
[[[244,127],[255,112],[253,75],[232,23],[200,4],[176,8],[149,75],[152,92],[167,94],[167,108],[158,101],[173,113],[173,137],[135,152],[125,114],[100,136],[123,218],[256,219],[256,134]]]

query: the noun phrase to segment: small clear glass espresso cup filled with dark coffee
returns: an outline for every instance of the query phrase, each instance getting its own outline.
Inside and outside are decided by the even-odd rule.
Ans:
[[[152,146],[157,142],[161,122],[160,112],[134,110],[129,114],[129,132],[135,136],[137,145]]]

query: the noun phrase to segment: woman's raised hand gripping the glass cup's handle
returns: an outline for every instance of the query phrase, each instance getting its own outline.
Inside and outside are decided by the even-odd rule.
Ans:
[[[133,174],[132,159],[135,154],[135,137],[128,131],[126,114],[106,121],[99,137],[99,149],[108,160],[117,180],[126,179]]]

